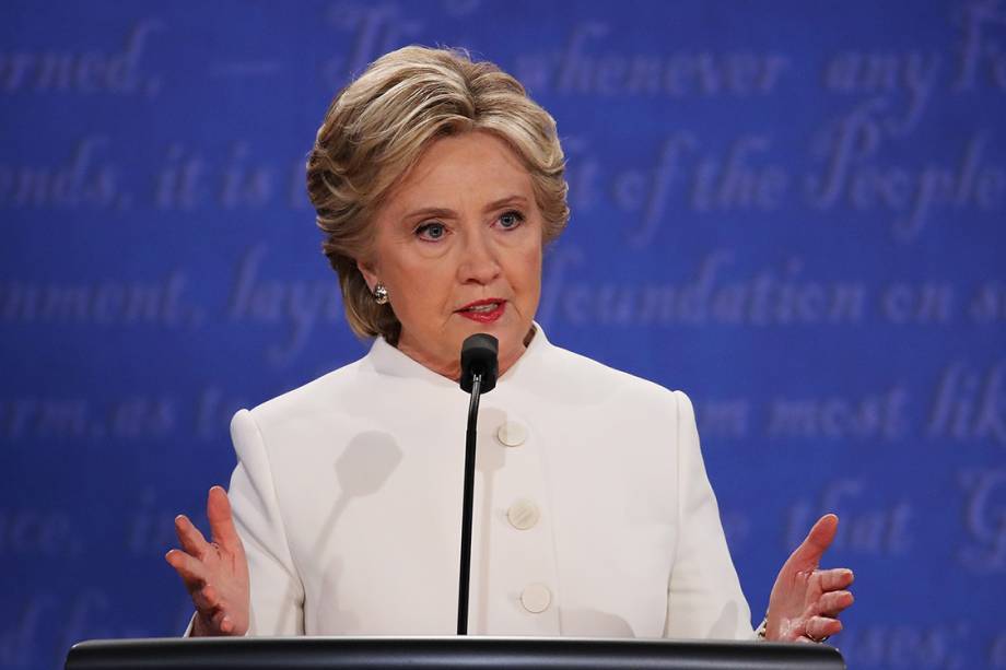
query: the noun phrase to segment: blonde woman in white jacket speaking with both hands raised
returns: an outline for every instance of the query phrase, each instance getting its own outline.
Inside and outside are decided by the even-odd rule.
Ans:
[[[548,342],[541,259],[569,218],[552,118],[465,55],[409,47],[332,102],[307,185],[353,330],[351,365],[248,412],[208,543],[167,561],[194,635],[449,634],[467,397],[458,352],[500,342],[482,400],[469,631],[744,638],[750,612],[681,392]],[[233,505],[233,517],[232,517]],[[826,516],[783,566],[764,635],[841,630]]]

